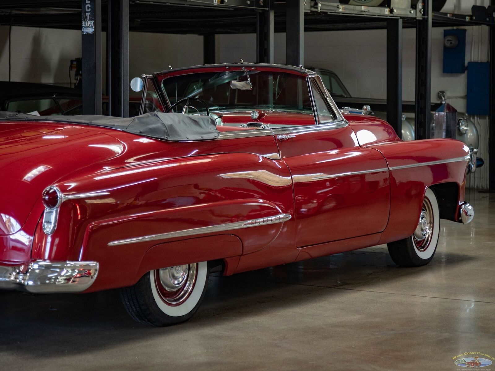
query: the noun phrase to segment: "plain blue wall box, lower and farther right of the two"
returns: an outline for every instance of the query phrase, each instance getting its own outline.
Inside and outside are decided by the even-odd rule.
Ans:
[[[490,114],[490,62],[467,64],[467,114]]]

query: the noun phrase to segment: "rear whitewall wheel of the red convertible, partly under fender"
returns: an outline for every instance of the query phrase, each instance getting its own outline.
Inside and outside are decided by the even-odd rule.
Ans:
[[[145,325],[175,325],[198,310],[208,282],[208,262],[148,272],[134,286],[120,289],[131,317]]]

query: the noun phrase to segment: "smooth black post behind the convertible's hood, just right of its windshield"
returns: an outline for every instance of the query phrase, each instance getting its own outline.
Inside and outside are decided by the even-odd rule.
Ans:
[[[402,132],[402,19],[387,21],[387,121]]]

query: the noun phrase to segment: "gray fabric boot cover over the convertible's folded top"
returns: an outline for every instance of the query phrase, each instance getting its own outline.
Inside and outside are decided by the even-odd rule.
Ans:
[[[151,138],[172,141],[216,139],[220,133],[215,120],[206,115],[150,112],[135,117],[99,115],[35,116],[24,113],[0,111],[0,120],[49,121],[103,126]]]

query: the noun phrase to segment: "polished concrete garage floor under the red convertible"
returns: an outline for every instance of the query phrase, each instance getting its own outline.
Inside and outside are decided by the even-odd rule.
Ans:
[[[117,291],[3,293],[0,368],[466,370],[452,357],[495,357],[495,194],[466,199],[474,221],[443,221],[428,266],[398,268],[381,245],[212,277],[173,327],[134,323]]]

